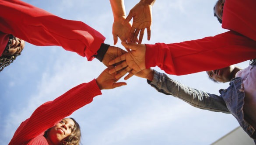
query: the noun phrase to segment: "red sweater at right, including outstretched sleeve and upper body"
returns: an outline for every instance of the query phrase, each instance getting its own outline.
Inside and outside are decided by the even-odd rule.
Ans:
[[[256,58],[256,0],[225,0],[222,28],[214,37],[181,43],[146,45],[146,68],[168,74],[214,70]]]

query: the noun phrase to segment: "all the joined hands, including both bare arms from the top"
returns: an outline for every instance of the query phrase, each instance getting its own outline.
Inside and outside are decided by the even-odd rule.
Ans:
[[[154,1],[155,0],[140,0],[126,17],[123,1],[117,2],[110,0],[114,15],[112,25],[114,45],[116,45],[119,38],[127,52],[121,48],[109,46],[102,60],[103,64],[107,66],[108,69],[105,69],[101,75],[109,75],[108,81],[111,82],[111,85],[109,83],[111,87],[105,88],[98,83],[100,89],[112,89],[126,85],[124,82],[116,82],[127,72],[129,74],[125,76],[125,80],[133,75],[147,79],[148,76],[152,76],[149,75],[150,72],[152,72],[151,69],[146,69],[145,66],[146,45],[141,44],[141,42],[145,29],[147,29],[147,40],[150,40],[151,37],[151,9]],[[131,19],[133,19],[133,24],[130,22]],[[96,79],[97,82],[100,76]]]

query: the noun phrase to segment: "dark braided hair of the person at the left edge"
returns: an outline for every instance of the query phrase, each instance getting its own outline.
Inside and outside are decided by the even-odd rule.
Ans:
[[[15,39],[16,37],[14,35],[9,36],[8,43],[4,49],[4,51],[9,52],[10,49],[10,44],[11,44],[11,39]],[[1,55],[0,56],[0,72],[6,67],[9,66],[16,58],[18,55],[21,55],[21,53],[12,55],[12,56],[7,56],[7,55]]]

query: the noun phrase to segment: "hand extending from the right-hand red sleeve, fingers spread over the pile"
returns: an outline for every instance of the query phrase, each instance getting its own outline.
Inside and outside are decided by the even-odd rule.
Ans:
[[[137,72],[146,68],[145,65],[145,54],[146,46],[144,44],[127,44],[122,42],[122,45],[126,49],[131,49],[131,51],[113,59],[109,62],[109,65],[116,65],[116,67],[109,70],[109,73],[117,73],[116,78],[124,76],[127,72],[129,74],[124,78],[125,80],[132,77]]]

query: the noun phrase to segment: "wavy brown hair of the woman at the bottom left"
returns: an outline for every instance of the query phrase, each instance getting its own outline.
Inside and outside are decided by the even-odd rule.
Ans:
[[[64,138],[62,140],[62,145],[79,145],[80,140],[81,140],[81,130],[80,126],[77,123],[77,121],[74,118],[70,118],[74,121],[75,125],[74,128],[69,136],[67,138]],[[51,128],[47,129],[45,131],[45,134],[43,135],[45,138],[48,137],[48,132],[50,131]]]

